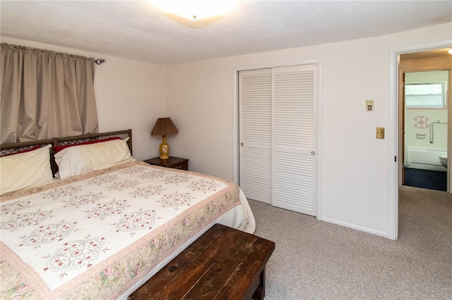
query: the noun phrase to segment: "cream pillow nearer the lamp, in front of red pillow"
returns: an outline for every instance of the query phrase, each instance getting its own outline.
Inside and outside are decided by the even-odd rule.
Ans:
[[[126,139],[71,146],[55,154],[61,179],[135,161]]]

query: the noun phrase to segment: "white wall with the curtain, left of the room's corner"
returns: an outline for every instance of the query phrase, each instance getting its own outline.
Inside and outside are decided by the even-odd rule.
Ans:
[[[155,120],[165,117],[165,66],[67,49],[52,44],[1,36],[1,42],[104,58],[96,65],[95,96],[99,132],[132,129],[133,157],[158,156],[161,137],[150,137]]]

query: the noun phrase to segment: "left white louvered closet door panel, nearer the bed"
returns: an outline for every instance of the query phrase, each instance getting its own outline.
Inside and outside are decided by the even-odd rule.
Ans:
[[[239,72],[240,187],[271,201],[271,69]]]

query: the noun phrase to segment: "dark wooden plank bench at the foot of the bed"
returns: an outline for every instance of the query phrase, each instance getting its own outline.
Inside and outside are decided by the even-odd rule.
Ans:
[[[274,249],[267,239],[215,224],[129,299],[263,299]]]

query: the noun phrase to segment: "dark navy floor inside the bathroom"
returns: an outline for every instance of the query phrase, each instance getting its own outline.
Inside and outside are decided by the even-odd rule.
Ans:
[[[404,185],[446,191],[447,172],[405,168]]]

